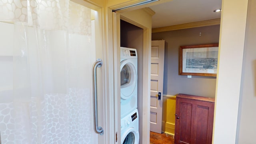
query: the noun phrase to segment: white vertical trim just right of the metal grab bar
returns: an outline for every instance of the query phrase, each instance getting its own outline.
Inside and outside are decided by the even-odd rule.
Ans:
[[[105,132],[104,132],[104,144],[114,144],[116,143],[116,132],[118,129],[118,125],[120,125],[120,122],[117,120],[118,115],[116,116],[116,97],[117,97],[117,90],[116,90],[116,85],[119,84],[120,86],[120,79],[119,83],[116,82],[116,74],[115,74],[115,69],[114,67],[119,61],[117,61],[114,57],[114,51],[116,50],[114,47],[114,36],[113,32],[114,27],[113,20],[114,17],[112,17],[112,10],[109,8],[102,8],[102,11],[104,11],[104,17],[102,17],[102,21],[104,21],[104,25],[102,25],[104,29],[104,59],[105,61],[105,70],[106,70],[106,83],[105,83],[105,88],[106,88],[106,93],[104,96],[104,108],[105,108]],[[120,71],[120,69],[119,69]],[[117,101],[118,102],[118,101]],[[120,102],[119,102],[120,103]],[[120,137],[120,136],[119,136]],[[101,142],[98,142],[99,144]]]

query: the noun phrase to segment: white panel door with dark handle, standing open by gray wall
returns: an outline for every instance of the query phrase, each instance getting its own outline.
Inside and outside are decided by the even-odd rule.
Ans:
[[[164,83],[164,40],[152,40],[150,86],[150,131],[162,131],[162,92]]]

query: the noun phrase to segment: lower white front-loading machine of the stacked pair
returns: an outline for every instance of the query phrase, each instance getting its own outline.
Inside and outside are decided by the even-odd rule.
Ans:
[[[135,109],[121,119],[121,144],[138,144],[139,138],[139,115]]]

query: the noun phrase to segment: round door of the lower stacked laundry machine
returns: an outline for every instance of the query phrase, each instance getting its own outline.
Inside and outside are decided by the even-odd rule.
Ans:
[[[121,138],[121,144],[138,144],[139,143],[139,135],[135,131],[135,128],[129,128],[124,132],[124,135]]]

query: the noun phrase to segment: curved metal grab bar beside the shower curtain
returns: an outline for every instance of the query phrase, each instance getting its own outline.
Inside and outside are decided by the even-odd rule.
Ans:
[[[94,129],[95,132],[103,135],[103,128],[98,126],[98,104],[97,104],[97,68],[102,66],[102,60],[97,59],[92,66],[92,82],[93,82],[93,95],[94,95]]]

